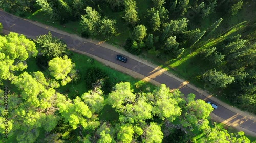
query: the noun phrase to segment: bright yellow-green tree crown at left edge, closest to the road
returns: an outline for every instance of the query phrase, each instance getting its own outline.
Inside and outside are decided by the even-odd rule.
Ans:
[[[35,43],[24,35],[11,32],[9,35],[0,36],[0,80],[12,80],[13,71],[26,69],[26,60],[35,57],[37,53]]]

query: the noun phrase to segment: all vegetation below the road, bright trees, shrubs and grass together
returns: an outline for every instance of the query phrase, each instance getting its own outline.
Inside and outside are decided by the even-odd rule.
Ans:
[[[194,94],[185,100],[164,84],[63,50],[51,33],[32,41],[11,32],[0,40],[2,142],[250,142],[212,122],[214,109]]]

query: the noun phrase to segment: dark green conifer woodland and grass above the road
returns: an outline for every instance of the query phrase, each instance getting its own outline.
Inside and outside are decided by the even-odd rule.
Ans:
[[[0,5],[18,16],[122,46],[230,105],[256,111],[254,1],[31,0]]]

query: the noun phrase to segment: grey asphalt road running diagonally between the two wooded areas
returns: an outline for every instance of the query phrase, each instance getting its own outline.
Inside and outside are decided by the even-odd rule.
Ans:
[[[38,24],[35,24],[32,21],[12,16],[11,14],[3,12],[2,10],[0,10],[0,23],[3,24],[4,30],[24,34],[31,38],[35,38],[35,36],[41,34],[47,34],[48,31],[53,29],[45,25],[38,26]],[[135,60],[135,58],[131,58],[131,55],[131,57],[127,56],[129,59],[127,63],[122,63],[115,59],[115,56],[118,54],[117,51],[104,48],[99,44],[91,43],[86,39],[78,38],[77,36],[71,34],[65,34],[65,32],[61,32],[59,30],[51,31],[51,33],[52,35],[63,39],[71,49],[87,52],[104,60],[123,66],[124,68],[133,70],[159,83],[166,84],[171,89],[179,88],[179,90],[185,95],[188,93],[194,93],[196,95],[196,99],[208,100],[214,103],[217,102],[216,104],[218,105],[218,109],[214,110],[211,114],[214,119],[227,125],[234,126],[251,136],[256,136],[255,116],[239,111],[216,99],[214,100],[214,98],[207,95],[207,93],[204,93],[189,84],[184,84],[184,82],[182,83],[180,80],[177,80],[177,78],[173,78],[168,74],[159,74],[159,70],[152,68],[152,66],[143,64]]]

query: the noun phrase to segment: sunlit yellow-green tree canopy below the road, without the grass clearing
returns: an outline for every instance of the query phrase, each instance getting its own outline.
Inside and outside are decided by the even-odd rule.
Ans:
[[[64,142],[71,137],[79,142],[162,142],[170,136],[176,141],[189,142],[197,140],[196,130],[203,134],[199,140],[202,142],[220,139],[250,142],[243,132],[228,133],[218,124],[210,125],[209,114],[213,110],[210,104],[195,100],[194,94],[185,100],[179,90],[170,92],[164,84],[152,92],[134,92],[129,82],[120,82],[109,93],[96,84],[82,95],[70,98],[58,91],[65,85],[63,81],[77,84],[70,83],[72,78],[68,74],[75,69],[72,59],[67,55],[55,57],[48,63],[48,69],[28,73],[24,65],[38,56],[35,43],[17,33],[0,38],[4,41],[0,54],[6,65],[1,68],[1,85],[10,84],[5,86],[8,91],[0,90],[8,96],[9,111],[6,121],[7,108],[1,106],[0,121],[8,123],[8,137],[15,137],[18,142],[38,142],[41,135],[45,136],[41,142]],[[10,51],[8,45],[14,40],[17,47]],[[27,41],[26,45],[23,41]],[[17,52],[17,48],[22,52]],[[16,59],[23,61],[15,68],[12,64]],[[4,97],[0,98],[4,104]],[[108,120],[109,113],[117,115],[116,119]],[[100,117],[102,114],[105,117]],[[0,127],[4,133],[6,127]],[[183,137],[176,136],[174,130]]]

